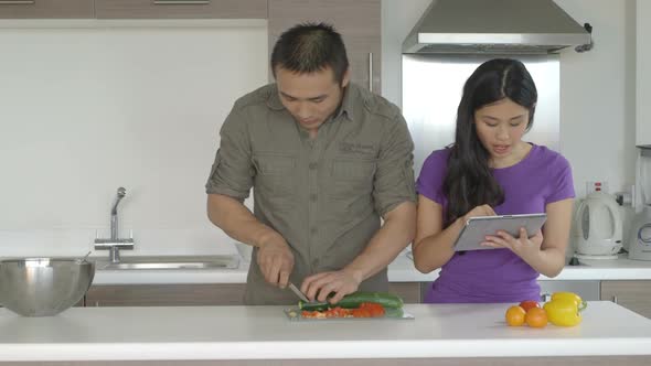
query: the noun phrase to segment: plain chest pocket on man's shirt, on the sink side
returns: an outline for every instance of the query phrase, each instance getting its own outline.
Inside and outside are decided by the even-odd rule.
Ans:
[[[274,197],[290,196],[295,193],[296,158],[294,155],[255,154],[253,163],[257,173],[254,189],[259,190],[259,193]]]

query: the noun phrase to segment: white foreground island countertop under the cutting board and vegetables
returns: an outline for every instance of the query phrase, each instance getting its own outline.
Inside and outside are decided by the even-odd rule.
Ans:
[[[575,327],[510,327],[506,304],[415,304],[415,320],[290,321],[282,306],[0,309],[0,360],[651,355],[651,320],[590,302]]]

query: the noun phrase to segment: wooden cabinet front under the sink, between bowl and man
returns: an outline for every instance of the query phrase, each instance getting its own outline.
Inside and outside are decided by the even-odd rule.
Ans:
[[[93,286],[86,306],[243,305],[244,283]]]

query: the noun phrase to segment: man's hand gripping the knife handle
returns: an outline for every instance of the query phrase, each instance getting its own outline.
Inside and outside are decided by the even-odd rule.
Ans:
[[[267,282],[281,289],[287,287],[294,269],[294,255],[285,239],[274,238],[260,245],[256,259]]]

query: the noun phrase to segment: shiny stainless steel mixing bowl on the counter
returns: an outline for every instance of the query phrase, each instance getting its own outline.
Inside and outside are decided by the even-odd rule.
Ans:
[[[26,258],[0,261],[0,304],[24,316],[49,316],[86,293],[95,263],[84,259]]]

